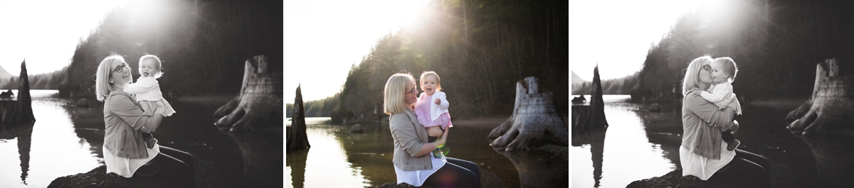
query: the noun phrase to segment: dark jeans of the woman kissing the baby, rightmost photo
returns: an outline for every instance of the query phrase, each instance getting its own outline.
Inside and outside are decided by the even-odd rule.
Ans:
[[[735,149],[735,158],[727,170],[718,171],[710,179],[749,182],[749,187],[771,187],[768,159],[752,152]]]

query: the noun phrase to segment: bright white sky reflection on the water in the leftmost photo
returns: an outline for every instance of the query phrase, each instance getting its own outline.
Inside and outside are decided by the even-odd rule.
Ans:
[[[61,108],[68,101],[53,98],[56,90],[30,93],[36,122],[0,126],[0,187],[46,187],[57,177],[99,166],[90,143],[72,134]]]

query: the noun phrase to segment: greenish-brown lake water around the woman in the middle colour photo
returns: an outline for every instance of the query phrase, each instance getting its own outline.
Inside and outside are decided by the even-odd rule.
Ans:
[[[396,182],[391,162],[394,145],[388,125],[363,124],[364,134],[349,133],[350,125],[333,124],[329,117],[307,117],[307,138],[312,145],[308,151],[288,154],[284,168],[285,185],[289,187],[376,187]],[[568,163],[547,153],[498,152],[486,138],[497,124],[465,124],[454,122],[448,135],[448,157],[477,163],[492,172],[506,187],[537,184],[568,186]],[[508,157],[512,157],[512,160]],[[514,162],[533,161],[543,172],[554,174],[541,179],[520,179]],[[535,182],[538,181],[538,182]]]

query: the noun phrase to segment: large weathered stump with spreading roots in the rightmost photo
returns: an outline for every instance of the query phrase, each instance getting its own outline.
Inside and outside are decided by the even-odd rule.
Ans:
[[[854,76],[839,75],[839,61],[825,60],[816,66],[816,85],[810,100],[789,112],[787,128],[798,134],[826,134],[851,126],[854,118]]]

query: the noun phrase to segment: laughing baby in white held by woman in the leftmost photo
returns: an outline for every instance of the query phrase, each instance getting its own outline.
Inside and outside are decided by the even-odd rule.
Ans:
[[[175,110],[172,105],[163,99],[163,94],[160,91],[160,84],[157,83],[157,78],[163,75],[161,72],[161,60],[152,54],[143,55],[139,58],[139,77],[137,83],[131,83],[125,92],[127,94],[136,94],[137,103],[143,108],[143,114],[152,116],[161,114],[163,117],[170,117]],[[151,134],[143,133],[145,145],[153,148],[157,140]]]

